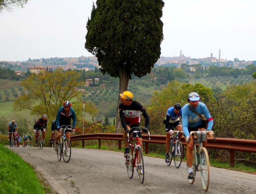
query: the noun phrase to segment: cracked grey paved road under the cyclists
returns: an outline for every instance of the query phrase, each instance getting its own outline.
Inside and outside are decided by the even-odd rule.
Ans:
[[[139,182],[134,173],[128,178],[123,153],[72,148],[71,159],[65,163],[57,160],[53,148],[13,147],[47,179],[59,194],[66,193],[141,193],[141,194],[200,194],[201,175],[193,185],[187,180],[187,167],[167,166],[164,159],[144,157],[145,181]],[[256,175],[210,167],[208,194],[255,194]]]

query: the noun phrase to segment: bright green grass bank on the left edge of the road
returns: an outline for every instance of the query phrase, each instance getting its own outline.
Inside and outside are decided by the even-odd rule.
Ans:
[[[0,193],[45,193],[33,168],[0,144]],[[29,184],[28,184],[29,183]]]

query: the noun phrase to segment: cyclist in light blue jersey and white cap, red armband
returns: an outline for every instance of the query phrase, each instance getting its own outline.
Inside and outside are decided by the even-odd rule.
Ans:
[[[191,131],[204,131],[204,130],[211,130],[213,127],[213,118],[209,113],[207,107],[203,102],[200,101],[200,96],[197,92],[191,92],[188,98],[188,104],[183,107],[182,110],[182,127],[183,132],[185,135],[185,140],[187,143],[187,164],[188,164],[188,179],[194,178],[194,173],[192,169],[192,160],[193,160],[193,138],[189,135]],[[205,118],[208,121],[207,129],[202,119],[190,110],[190,107],[195,112],[199,113],[200,115],[204,114]],[[212,137],[212,134],[209,134]],[[205,147],[207,143],[207,139],[203,142],[203,146]]]

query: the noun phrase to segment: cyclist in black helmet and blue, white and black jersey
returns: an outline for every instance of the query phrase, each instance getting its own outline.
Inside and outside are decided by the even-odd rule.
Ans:
[[[169,146],[170,146],[170,139],[171,135],[173,135],[173,128],[178,131],[182,131],[182,125],[180,123],[180,116],[182,114],[182,108],[180,103],[176,103],[174,107],[170,107],[167,110],[166,120],[165,120],[165,132],[166,132],[166,154],[165,154],[165,162],[168,163],[169,161]],[[179,133],[179,140],[181,139],[182,133]]]

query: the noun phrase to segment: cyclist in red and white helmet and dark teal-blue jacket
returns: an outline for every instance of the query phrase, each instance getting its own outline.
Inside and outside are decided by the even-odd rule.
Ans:
[[[72,126],[74,127],[73,131],[75,131],[75,125],[76,125],[76,113],[73,108],[71,108],[71,102],[70,101],[65,101],[63,103],[63,106],[60,107],[57,116],[56,116],[56,126],[57,126],[57,131],[59,133],[56,135],[56,145],[60,141],[61,135],[62,135],[62,130],[60,127],[62,125],[71,125],[71,119],[73,120]],[[66,138],[70,140],[70,135],[71,135],[71,130],[66,130],[65,131]]]

